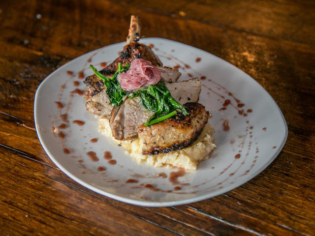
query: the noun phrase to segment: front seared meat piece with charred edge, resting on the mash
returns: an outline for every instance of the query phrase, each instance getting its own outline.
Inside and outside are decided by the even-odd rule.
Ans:
[[[177,114],[151,126],[138,127],[138,136],[143,143],[142,154],[166,153],[187,147],[193,143],[208,122],[209,113],[200,103],[186,103],[188,116]]]

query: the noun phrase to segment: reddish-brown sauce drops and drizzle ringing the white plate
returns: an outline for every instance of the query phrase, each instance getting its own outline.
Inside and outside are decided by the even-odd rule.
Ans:
[[[156,49],[156,50],[159,51],[158,49]],[[162,51],[160,51],[160,52],[162,52]],[[166,55],[165,52],[162,52],[162,53]],[[96,52],[95,52],[95,54],[96,54]],[[77,73],[79,78],[81,78],[81,79],[84,78],[83,71],[84,71],[86,65],[91,62],[91,60],[92,60],[93,56],[95,56],[95,54],[93,54],[92,57],[86,61],[85,65],[83,66],[84,68],[83,68],[81,71],[79,71],[79,72]],[[182,69],[184,69],[184,70],[190,69],[191,71],[193,71],[193,72],[195,72],[196,74],[198,74],[201,79],[206,79],[206,77],[205,77],[204,75],[201,75],[201,74],[199,74],[198,72],[192,70],[188,64],[186,64],[185,62],[183,62],[183,61],[177,59],[176,57],[174,57],[174,56],[172,56],[172,55],[168,55],[167,59],[174,59],[176,62],[179,63],[177,66],[175,66],[175,68],[176,68],[176,67],[178,67],[178,68],[180,67],[180,68],[182,68]],[[196,61],[196,62],[199,62],[200,60],[201,60],[200,58],[197,58],[195,61]],[[99,63],[99,64],[100,64],[101,67],[105,67],[105,66],[106,66],[106,62],[101,62],[101,63]],[[181,66],[180,64],[182,64],[183,66]],[[71,72],[71,71],[67,71],[66,74],[67,74],[68,76],[71,76],[72,78],[75,77],[75,74],[74,74],[73,72],[71,72],[71,73],[70,73],[70,72]],[[189,74],[189,73],[188,73],[188,74]],[[189,74],[189,77],[193,77],[193,76],[192,76],[191,74]],[[69,80],[69,79],[68,79],[68,80]],[[71,99],[72,99],[72,97],[73,97],[72,94],[73,94],[73,93],[77,93],[78,95],[82,95],[82,94],[83,94],[83,92],[82,92],[81,90],[79,90],[79,89],[74,89],[74,90],[71,92],[71,94],[70,94],[70,99],[69,99],[69,102],[68,102],[68,106],[67,106],[67,109],[66,109],[66,113],[63,114],[63,115],[61,115],[61,109],[63,108],[63,104],[60,102],[60,100],[61,100],[61,96],[62,96],[63,89],[65,88],[65,85],[67,84],[68,80],[60,87],[60,93],[59,93],[59,95],[58,95],[57,101],[55,102],[56,105],[58,106],[58,109],[59,109],[58,113],[59,113],[60,117],[63,119],[63,121],[67,121],[67,120],[66,120],[66,118],[67,118],[67,112],[68,112],[68,110],[69,110],[70,103],[71,103]],[[214,81],[212,81],[212,80],[209,80],[209,81],[212,82],[212,83],[214,83],[214,84],[216,84],[216,85],[219,86],[221,89],[223,89],[223,90],[225,91],[225,93],[228,94],[228,96],[231,96],[231,97],[235,100],[235,102],[237,103],[236,105],[235,105],[235,104],[232,104],[232,102],[231,102],[229,99],[225,99],[225,96],[226,96],[226,95],[222,95],[222,94],[220,94],[219,92],[217,92],[217,91],[215,91],[215,90],[213,90],[213,89],[211,89],[211,88],[208,88],[207,86],[203,85],[206,89],[209,89],[210,91],[212,91],[213,93],[215,93],[216,95],[218,95],[219,97],[221,97],[222,99],[224,99],[224,103],[222,104],[222,107],[223,107],[223,108],[226,109],[226,108],[228,107],[228,105],[231,105],[232,107],[234,107],[235,109],[238,110],[239,115],[247,116],[247,114],[245,113],[244,110],[238,109],[238,108],[243,108],[243,107],[245,107],[245,106],[246,106],[245,104],[241,103],[241,101],[240,101],[239,99],[237,99],[231,92],[229,92],[227,89],[225,89],[225,88],[224,88],[223,86],[221,86],[220,84],[218,84],[218,83],[216,83],[216,82],[214,82]],[[79,86],[79,82],[73,82],[73,86],[74,86],[74,87]],[[220,90],[220,89],[219,89],[219,90]],[[225,110],[225,109],[222,109],[222,111]],[[247,113],[252,113],[252,109],[248,109],[248,110],[247,110]],[[57,121],[57,120],[56,120],[56,121]],[[54,123],[55,123],[56,121],[54,121]],[[82,121],[82,122],[84,122],[84,121]],[[224,129],[229,129],[227,120],[224,120],[224,122],[226,122],[226,123],[223,125],[223,126],[224,126]],[[77,123],[77,124],[78,124],[78,123]],[[80,124],[78,124],[78,125],[80,125]],[[227,128],[227,127],[228,127],[228,128]],[[56,128],[56,127],[53,127],[53,128]],[[58,126],[58,128],[63,128],[63,129],[65,129],[65,128],[67,128],[67,126],[66,126],[64,123],[62,123],[60,126]],[[57,128],[56,128],[56,129],[57,129]],[[251,128],[250,128],[250,129],[251,129]],[[247,129],[247,130],[248,130],[248,129]],[[263,130],[265,131],[265,130],[266,130],[266,127],[264,127]],[[58,131],[58,130],[57,130],[57,131]],[[247,135],[247,134],[248,134],[248,133],[246,133],[246,135]],[[252,134],[252,132],[250,132],[250,134]],[[65,135],[63,132],[59,131],[59,132],[58,132],[58,136],[61,138],[61,140],[63,140],[66,135]],[[250,136],[250,138],[252,138],[252,135]],[[97,141],[97,139],[92,139],[92,140],[96,140],[96,141]],[[91,142],[93,142],[92,140],[91,140]],[[96,142],[96,141],[95,141],[95,142]],[[242,157],[242,155],[241,155],[240,153],[235,154],[235,157],[233,158],[233,161],[232,161],[226,168],[224,168],[224,169],[220,172],[220,174],[219,174],[218,176],[213,177],[212,179],[209,179],[209,180],[207,180],[206,182],[204,182],[204,183],[202,183],[202,184],[200,184],[200,185],[203,185],[203,184],[205,184],[205,183],[207,183],[207,182],[210,182],[210,181],[214,180],[215,178],[221,176],[223,173],[225,173],[227,170],[230,169],[230,167],[234,164],[235,161],[237,161],[238,163],[239,163],[239,161],[242,161],[241,164],[239,165],[239,167],[238,167],[233,173],[230,173],[229,176],[228,176],[226,179],[224,179],[224,180],[221,181],[220,183],[218,183],[218,184],[216,184],[216,185],[214,185],[214,186],[212,186],[212,187],[210,187],[210,188],[214,188],[214,187],[216,187],[216,186],[218,186],[218,185],[222,185],[222,183],[225,182],[229,177],[234,176],[234,175],[236,174],[236,172],[241,168],[241,166],[243,166],[243,164],[245,163],[245,161],[246,161],[246,159],[247,159],[247,156],[249,155],[249,151],[250,151],[250,149],[251,149],[251,145],[252,145],[252,142],[250,142],[250,144],[249,144],[249,148],[248,148],[248,151],[247,151],[247,153],[246,153],[246,155],[245,155],[244,160],[240,160],[241,157]],[[257,143],[256,143],[256,145],[257,145]],[[244,147],[244,143],[243,143],[243,147]],[[242,147],[242,148],[243,148],[243,147]],[[66,153],[66,154],[69,154],[69,153],[70,153],[70,150],[64,147],[64,143],[63,143],[63,151],[64,151],[64,153]],[[239,152],[241,152],[241,150],[240,150]],[[256,147],[256,153],[258,153],[258,152],[259,152],[258,147]],[[106,153],[109,153],[109,154],[106,154]],[[96,153],[95,153],[95,152],[89,151],[89,152],[87,152],[87,154],[88,154],[88,156],[91,158],[92,161],[98,161],[98,157],[96,156]],[[251,168],[250,168],[249,170],[247,170],[243,175],[246,175],[247,173],[250,172],[250,170],[252,169],[254,163],[256,162],[256,158],[258,158],[258,155],[255,156],[255,160],[253,161],[253,164],[252,164]],[[111,162],[111,163],[109,163],[109,164],[116,164],[116,160],[113,160],[113,159],[112,159],[112,156],[111,156],[111,153],[110,153],[110,152],[105,152],[105,153],[104,153],[104,159],[109,160],[109,162]],[[80,161],[82,161],[82,160],[80,160]],[[101,171],[105,171],[105,170],[106,170],[106,168],[103,167],[103,166],[99,166],[99,167],[97,168],[97,171],[100,171],[100,172],[101,172]],[[183,177],[184,175],[185,175],[185,170],[179,169],[177,172],[171,172],[171,173],[170,173],[170,176],[169,176],[169,178],[168,178],[168,180],[169,180],[172,184],[174,184],[174,185],[181,185],[181,186],[189,185],[189,183],[182,183],[182,182],[180,182],[180,181],[178,180],[178,177]],[[243,175],[241,175],[241,176],[243,176]],[[143,177],[144,177],[144,176],[143,176]],[[165,173],[159,173],[159,174],[155,175],[155,177],[166,178],[167,175],[166,175]],[[112,179],[112,180],[108,180],[108,181],[109,181],[109,182],[116,182],[116,181],[118,181],[118,180],[113,180],[113,179]],[[128,179],[128,180],[126,180],[126,183],[137,183],[137,182],[138,182],[138,180],[135,180],[135,179]],[[124,186],[124,185],[121,185],[121,186]],[[173,188],[173,190],[179,191],[179,190],[182,189],[181,186],[175,186],[175,187]],[[137,186],[135,186],[135,187],[137,187]],[[147,189],[151,189],[151,190],[153,190],[153,191],[172,192],[172,190],[161,190],[161,189],[158,189],[158,188],[154,187],[154,185],[152,185],[152,184],[146,184],[146,185],[144,185],[143,183],[140,183],[140,187],[144,187],[144,188],[147,188]],[[192,187],[195,188],[195,187],[197,187],[197,185],[196,185],[196,186],[192,186]],[[202,191],[209,190],[210,188],[203,189]],[[222,188],[222,186],[220,186],[219,188]],[[188,192],[176,192],[176,193],[183,194],[183,193],[188,193]]]

